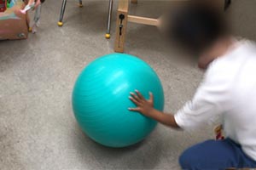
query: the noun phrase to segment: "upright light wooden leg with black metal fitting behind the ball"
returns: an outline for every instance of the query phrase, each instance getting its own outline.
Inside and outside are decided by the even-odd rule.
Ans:
[[[114,51],[123,53],[125,45],[125,34],[128,20],[129,0],[119,0],[119,8],[116,22],[116,37]]]

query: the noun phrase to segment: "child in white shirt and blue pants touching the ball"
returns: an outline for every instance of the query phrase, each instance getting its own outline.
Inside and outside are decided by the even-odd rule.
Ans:
[[[221,116],[226,139],[207,140],[185,150],[183,169],[256,167],[256,46],[237,41],[216,10],[189,6],[174,14],[172,38],[183,49],[199,56],[206,69],[194,98],[175,115],[154,109],[154,97],[144,99],[136,90],[129,108],[174,128],[191,129]]]

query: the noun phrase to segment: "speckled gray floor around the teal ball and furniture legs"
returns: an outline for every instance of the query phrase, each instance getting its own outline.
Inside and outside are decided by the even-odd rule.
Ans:
[[[255,40],[256,0],[233,2],[227,14],[234,31]],[[81,132],[71,106],[73,83],[91,60],[113,52],[113,38],[104,39],[108,2],[85,1],[78,8],[68,0],[61,28],[60,7],[61,0],[46,1],[37,34],[0,42],[0,169],[179,169],[179,154],[212,138],[212,127],[176,132],[159,125],[148,139],[125,149],[103,147]],[[157,17],[165,7],[166,2],[143,1],[131,13]],[[152,26],[129,24],[125,52],[157,71],[166,111],[177,111],[201,81],[195,60],[168,47]]]

